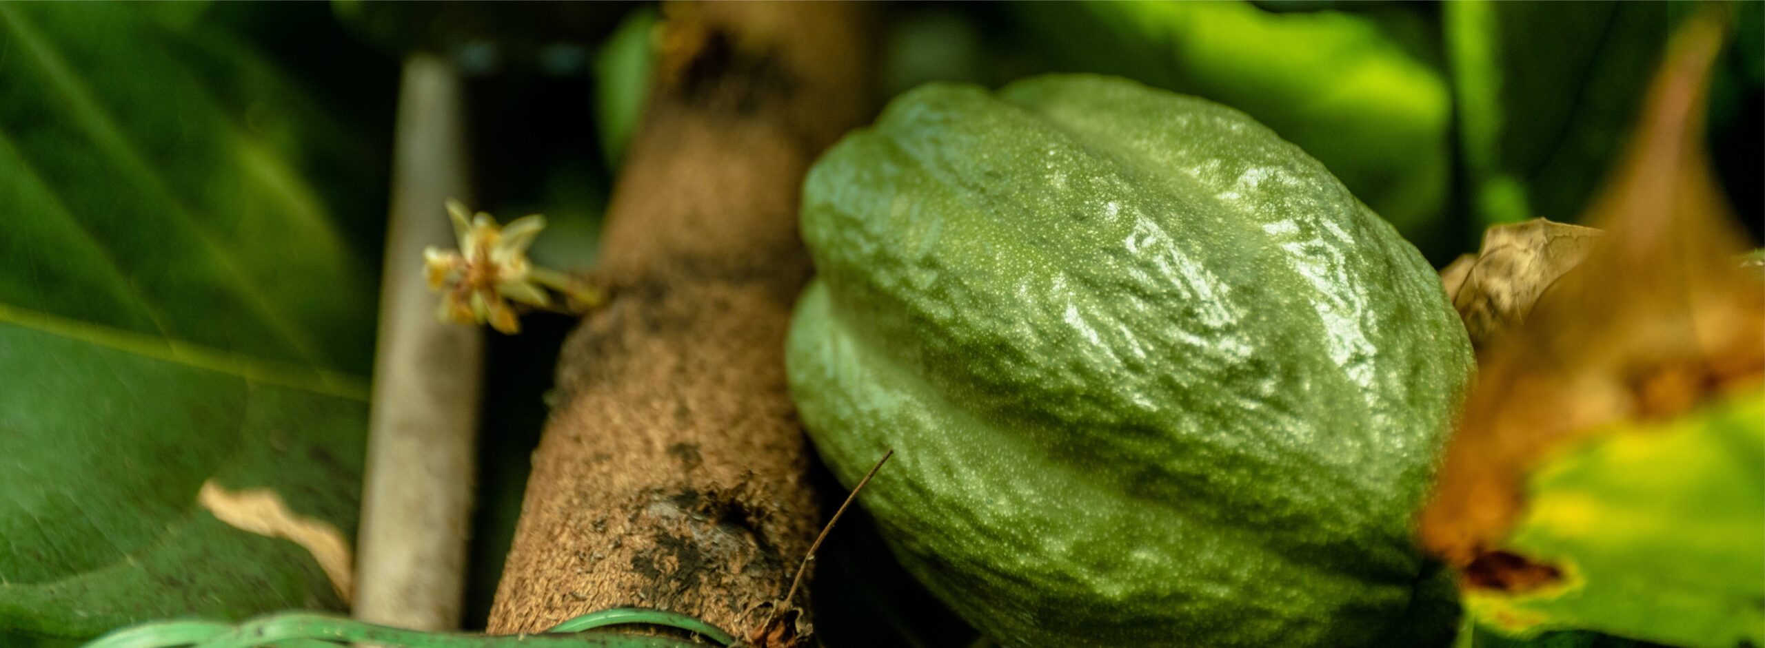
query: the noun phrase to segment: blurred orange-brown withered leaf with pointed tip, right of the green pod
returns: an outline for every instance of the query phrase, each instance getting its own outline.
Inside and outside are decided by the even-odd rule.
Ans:
[[[1624,164],[1581,218],[1608,234],[1576,271],[1516,291],[1537,287],[1541,298],[1521,326],[1481,349],[1477,386],[1421,519],[1423,544],[1453,563],[1500,549],[1523,507],[1521,479],[1544,451],[1603,423],[1675,414],[1765,373],[1765,285],[1733,262],[1746,238],[1701,139],[1721,40],[1710,12],[1675,35]],[[1551,245],[1544,236],[1543,248]],[[1477,266],[1456,271],[1465,278],[1454,303],[1490,292],[1472,292]],[[1488,320],[1504,320],[1490,301]]]

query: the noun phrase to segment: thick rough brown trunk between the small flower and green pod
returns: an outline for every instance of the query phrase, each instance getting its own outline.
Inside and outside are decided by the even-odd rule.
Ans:
[[[560,361],[491,632],[614,606],[747,632],[817,528],[784,382],[810,273],[803,173],[868,111],[852,4],[671,5],[597,273]]]

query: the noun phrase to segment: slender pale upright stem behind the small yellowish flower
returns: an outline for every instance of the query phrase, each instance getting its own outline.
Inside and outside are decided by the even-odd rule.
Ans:
[[[464,90],[432,56],[404,65],[379,296],[355,618],[459,627],[484,333],[436,320],[424,248],[455,245],[443,204],[466,192]]]

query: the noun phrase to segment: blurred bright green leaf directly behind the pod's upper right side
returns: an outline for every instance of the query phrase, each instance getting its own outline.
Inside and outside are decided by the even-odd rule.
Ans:
[[[1438,236],[1453,102],[1442,72],[1386,25],[1237,2],[1011,7],[1063,70],[1121,74],[1250,113],[1424,250]]]

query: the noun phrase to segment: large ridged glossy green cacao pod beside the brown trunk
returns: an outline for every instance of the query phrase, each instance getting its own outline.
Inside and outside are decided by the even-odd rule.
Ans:
[[[1423,257],[1239,111],[1124,79],[897,99],[810,171],[791,391],[1006,646],[1380,644],[1472,364]],[[1446,623],[1451,623],[1447,618]]]

